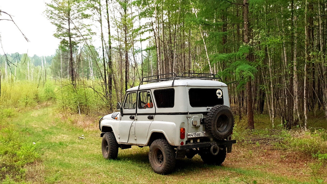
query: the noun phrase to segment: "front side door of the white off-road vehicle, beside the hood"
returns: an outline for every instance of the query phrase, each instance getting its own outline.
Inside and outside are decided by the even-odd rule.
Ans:
[[[136,92],[129,92],[123,105],[123,115],[119,122],[119,142],[127,143],[129,130],[136,115]]]

